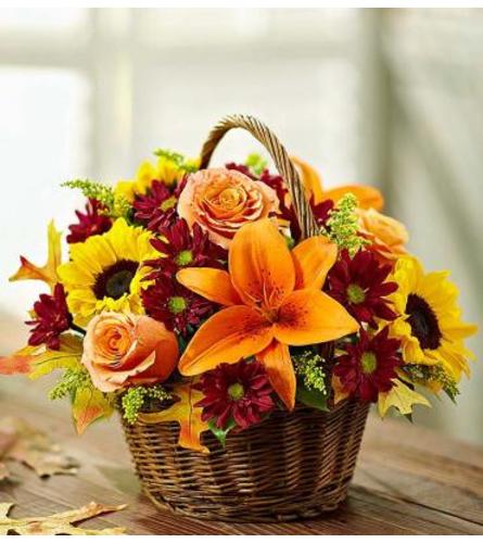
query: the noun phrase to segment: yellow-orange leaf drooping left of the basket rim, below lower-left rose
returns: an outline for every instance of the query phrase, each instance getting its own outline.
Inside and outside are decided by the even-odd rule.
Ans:
[[[77,433],[84,433],[86,428],[101,417],[110,417],[114,411],[112,396],[93,387],[82,387],[76,390],[72,414]]]

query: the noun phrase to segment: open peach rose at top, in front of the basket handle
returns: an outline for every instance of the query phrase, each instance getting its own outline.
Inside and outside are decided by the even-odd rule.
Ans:
[[[178,214],[192,228],[198,223],[209,239],[228,249],[240,227],[277,212],[276,192],[234,169],[192,174],[178,201]]]

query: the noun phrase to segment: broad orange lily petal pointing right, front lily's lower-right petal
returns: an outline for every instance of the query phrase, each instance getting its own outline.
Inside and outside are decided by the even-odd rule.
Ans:
[[[359,324],[332,298],[316,289],[295,290],[280,307],[275,337],[288,345],[308,345],[342,338]]]

